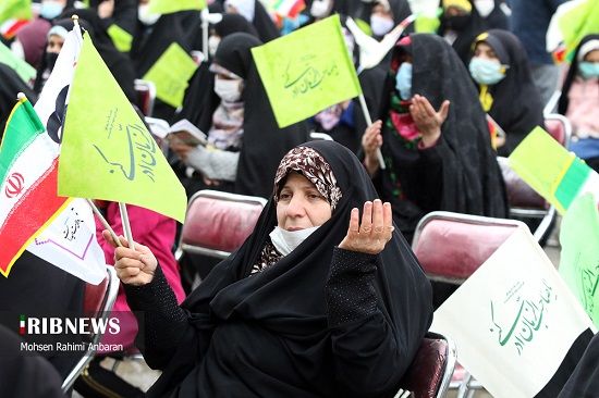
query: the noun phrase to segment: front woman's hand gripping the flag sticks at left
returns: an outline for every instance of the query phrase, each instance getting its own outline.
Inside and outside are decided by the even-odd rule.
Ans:
[[[135,250],[132,250],[129,248],[129,241],[123,236],[119,236],[122,247],[118,247],[108,229],[102,232],[102,236],[106,241],[115,248],[114,270],[119,279],[124,284],[134,286],[142,286],[151,282],[158,266],[158,260],[156,260],[150,249],[135,242]]]

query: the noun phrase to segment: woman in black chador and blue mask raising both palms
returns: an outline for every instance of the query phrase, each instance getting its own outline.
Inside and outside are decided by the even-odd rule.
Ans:
[[[381,120],[363,137],[364,164],[402,234],[411,240],[435,210],[505,216],[485,112],[455,51],[438,36],[411,35],[395,46],[391,72]]]

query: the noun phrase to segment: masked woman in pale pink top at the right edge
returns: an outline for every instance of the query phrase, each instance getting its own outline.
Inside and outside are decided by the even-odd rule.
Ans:
[[[599,35],[583,38],[562,87],[558,112],[572,123],[570,149],[599,172]]]

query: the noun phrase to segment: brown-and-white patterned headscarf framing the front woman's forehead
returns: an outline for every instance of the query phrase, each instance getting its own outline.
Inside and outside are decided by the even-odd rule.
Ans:
[[[316,189],[329,201],[334,211],[341,200],[341,189],[337,185],[337,178],[329,163],[313,148],[296,147],[288,152],[277,169],[274,176],[274,202],[279,201],[282,189],[280,183],[285,179],[291,171],[301,173],[316,186]]]

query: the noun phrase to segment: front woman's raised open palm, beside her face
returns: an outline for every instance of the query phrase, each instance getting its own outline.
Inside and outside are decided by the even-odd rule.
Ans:
[[[347,235],[339,244],[339,247],[344,250],[378,254],[391,240],[392,234],[391,203],[383,204],[380,199],[376,199],[374,202],[364,203],[362,223],[359,222],[359,210],[352,209]]]

